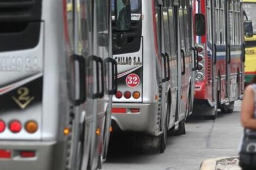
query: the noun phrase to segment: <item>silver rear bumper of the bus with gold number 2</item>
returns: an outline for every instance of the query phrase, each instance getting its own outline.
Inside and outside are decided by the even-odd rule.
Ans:
[[[2,170],[57,170],[53,167],[56,142],[1,141],[0,150],[10,152],[10,158],[0,158]],[[21,152],[34,151],[35,156],[22,158]],[[56,150],[55,150],[56,151]],[[56,161],[56,160],[55,160]]]

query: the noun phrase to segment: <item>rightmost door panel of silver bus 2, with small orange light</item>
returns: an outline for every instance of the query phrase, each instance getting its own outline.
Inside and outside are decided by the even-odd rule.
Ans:
[[[110,125],[110,114],[112,105],[112,95],[109,94],[109,66],[111,62],[112,54],[109,53],[110,47],[110,35],[111,30],[110,23],[110,6],[109,1],[94,1],[94,33],[93,33],[93,58],[97,61],[97,71],[99,71],[99,80],[97,80],[97,89],[99,95],[96,97],[96,115],[95,115],[95,131],[94,142],[92,143],[92,169],[101,167],[101,154],[103,152],[103,143],[105,126]],[[112,50],[111,50],[112,51]],[[107,119],[108,118],[108,119]],[[106,122],[107,121],[107,122]],[[108,131],[107,131],[108,132]]]

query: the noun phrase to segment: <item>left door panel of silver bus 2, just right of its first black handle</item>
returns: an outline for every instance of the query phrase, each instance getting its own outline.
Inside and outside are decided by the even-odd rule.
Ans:
[[[85,90],[81,91],[80,88],[76,88],[76,95],[80,96],[82,93],[86,93],[86,102],[81,103],[81,106],[76,107],[76,121],[79,126],[76,127],[78,131],[78,144],[74,149],[77,150],[74,159],[75,163],[72,165],[74,169],[81,169],[87,167],[90,162],[89,152],[90,145],[92,144],[93,133],[93,116],[95,115],[95,100],[93,99],[93,92],[95,91],[95,81],[93,80],[94,65],[90,59],[92,56],[92,39],[93,39],[93,22],[92,22],[92,2],[87,0],[74,0],[74,15],[75,15],[75,31],[74,31],[74,49],[76,56],[83,58],[85,61],[84,70],[76,71],[84,72],[87,84],[84,85]],[[78,66],[78,65],[76,65]],[[83,86],[82,81],[84,77],[76,75],[79,79],[80,86]],[[71,169],[72,169],[71,168]]]

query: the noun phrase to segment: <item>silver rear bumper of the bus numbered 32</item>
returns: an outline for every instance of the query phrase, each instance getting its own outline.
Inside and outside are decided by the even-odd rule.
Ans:
[[[113,103],[112,108],[113,132],[116,127],[121,131],[159,135],[157,103]]]

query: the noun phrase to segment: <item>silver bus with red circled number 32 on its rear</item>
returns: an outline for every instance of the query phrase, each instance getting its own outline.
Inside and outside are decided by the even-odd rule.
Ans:
[[[114,14],[112,3],[112,14]],[[196,49],[189,0],[131,0],[131,26],[112,15],[118,91],[113,131],[143,134],[137,144],[164,152],[168,130],[185,134],[192,111]],[[145,142],[146,141],[146,142]]]

